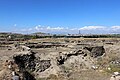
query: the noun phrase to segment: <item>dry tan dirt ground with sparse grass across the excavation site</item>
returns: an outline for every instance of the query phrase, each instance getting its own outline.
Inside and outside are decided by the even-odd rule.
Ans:
[[[5,61],[14,61],[17,54],[25,56],[27,62],[26,51],[35,53],[35,60],[23,62],[25,70],[34,74],[36,80],[110,80],[113,72],[120,72],[119,38],[41,38],[18,44],[0,48],[0,79],[5,76],[3,73],[11,74],[4,67]],[[29,69],[27,65],[33,62],[35,66]],[[32,68],[35,70],[31,71]]]

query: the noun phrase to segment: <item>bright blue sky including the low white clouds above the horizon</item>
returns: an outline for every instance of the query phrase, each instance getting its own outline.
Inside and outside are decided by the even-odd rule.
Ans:
[[[0,0],[1,32],[119,33],[120,0]]]

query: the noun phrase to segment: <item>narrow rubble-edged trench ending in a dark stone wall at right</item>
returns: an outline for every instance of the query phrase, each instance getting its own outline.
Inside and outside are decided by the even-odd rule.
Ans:
[[[84,52],[84,50],[87,50],[90,53],[88,54],[88,53]],[[73,51],[72,53],[59,55],[59,57],[57,57],[57,63],[58,63],[58,65],[62,65],[71,56],[82,55],[83,56],[82,58],[84,58],[87,55],[89,55],[93,58],[97,58],[99,56],[102,56],[104,53],[105,53],[105,49],[103,46],[88,46],[88,47],[84,47],[82,50],[78,49],[78,50]]]

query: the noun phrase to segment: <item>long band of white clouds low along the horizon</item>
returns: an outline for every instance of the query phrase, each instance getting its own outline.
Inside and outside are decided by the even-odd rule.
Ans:
[[[79,30],[82,34],[111,34],[120,33],[120,26],[84,26],[81,28],[69,28],[69,27],[50,27],[37,25],[32,28],[26,28],[18,30],[21,33],[34,33],[34,32],[44,32],[44,33],[60,33],[60,34],[78,34]]]

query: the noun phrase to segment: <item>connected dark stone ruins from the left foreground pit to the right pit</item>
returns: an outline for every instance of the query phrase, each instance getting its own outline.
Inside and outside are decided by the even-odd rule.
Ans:
[[[54,56],[56,59],[52,60],[51,57],[53,56],[49,56],[48,59],[41,59],[41,56],[30,50],[29,47],[23,46],[21,48],[24,48],[24,50],[22,49],[21,52],[14,53],[12,61],[15,65],[17,65],[17,67],[14,68],[18,70],[14,70],[19,74],[20,78],[27,80],[35,80],[36,74],[39,73],[44,74],[48,71],[47,73],[51,74],[52,69],[57,72],[60,70],[59,66],[67,65],[69,60],[73,61],[75,58],[78,58],[79,60],[81,56],[82,58],[86,56],[97,58],[105,53],[103,46],[88,46],[72,52],[59,52],[59,54]],[[55,62],[55,64],[53,64],[53,62]],[[92,65],[90,65],[90,67],[92,67]]]

